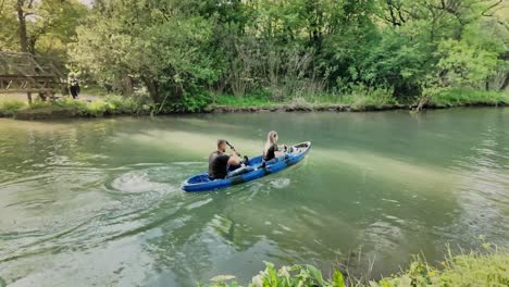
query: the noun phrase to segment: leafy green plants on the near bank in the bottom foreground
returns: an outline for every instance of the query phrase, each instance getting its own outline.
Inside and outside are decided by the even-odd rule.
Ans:
[[[344,276],[335,270],[331,278],[312,265],[294,265],[276,269],[272,263],[252,278],[251,287],[424,287],[424,286],[509,286],[509,253],[487,247],[486,250],[449,254],[438,265],[432,266],[415,257],[410,266],[400,274],[380,280],[365,280]],[[237,287],[235,276],[220,275],[211,279],[212,287]]]

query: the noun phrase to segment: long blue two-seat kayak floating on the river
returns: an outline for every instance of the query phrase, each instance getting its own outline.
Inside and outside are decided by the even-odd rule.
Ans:
[[[306,157],[310,148],[311,141],[297,144],[288,148],[288,152],[286,152],[285,157],[269,161],[264,165],[262,165],[263,160],[261,155],[249,159],[249,166],[253,169],[252,171],[224,179],[211,180],[208,172],[200,173],[187,178],[187,180],[182,184],[182,189],[189,192],[208,191],[251,182],[265,175],[277,173],[278,171],[298,163]]]

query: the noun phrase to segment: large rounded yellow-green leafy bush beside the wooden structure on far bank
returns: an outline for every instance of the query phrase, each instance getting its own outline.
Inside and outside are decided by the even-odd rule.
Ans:
[[[73,61],[99,83],[115,86],[131,76],[145,85],[154,102],[199,105],[184,93],[201,97],[218,72],[206,49],[213,22],[194,14],[193,5],[198,9],[199,2],[103,1],[77,29]]]

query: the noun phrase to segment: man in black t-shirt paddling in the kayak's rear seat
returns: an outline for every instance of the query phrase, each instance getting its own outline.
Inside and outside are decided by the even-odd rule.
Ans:
[[[232,149],[232,154],[226,154],[226,140],[218,139],[218,150],[209,157],[209,178],[225,178],[229,171],[243,167],[241,160],[237,151]]]

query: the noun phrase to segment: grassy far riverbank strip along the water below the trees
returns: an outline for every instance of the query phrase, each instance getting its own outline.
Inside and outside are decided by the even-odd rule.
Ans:
[[[104,117],[115,115],[164,115],[179,113],[241,113],[241,112],[370,112],[415,110],[418,100],[398,103],[392,97],[362,95],[347,97],[293,98],[276,102],[268,97],[213,97],[211,103],[186,109],[163,109],[160,104],[140,101],[134,97],[92,96],[74,100],[65,97],[53,102],[28,105],[20,100],[0,102],[0,117],[16,120],[52,120],[73,117]],[[445,90],[425,100],[423,110],[458,107],[507,107],[509,92],[477,90]]]

